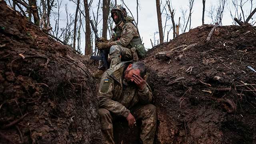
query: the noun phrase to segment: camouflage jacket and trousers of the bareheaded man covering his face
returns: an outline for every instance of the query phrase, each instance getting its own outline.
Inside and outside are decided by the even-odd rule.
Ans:
[[[142,119],[140,138],[143,144],[153,144],[156,132],[156,107],[150,104],[152,91],[146,84],[142,90],[136,85],[123,83],[124,70],[132,62],[121,62],[104,72],[100,81],[98,99],[100,101],[100,122],[105,144],[114,144],[112,116],[131,113],[136,120]]]

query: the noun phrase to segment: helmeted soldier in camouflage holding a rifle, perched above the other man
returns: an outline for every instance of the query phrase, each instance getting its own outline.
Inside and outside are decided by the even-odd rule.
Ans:
[[[111,17],[116,26],[110,40],[100,38],[97,43],[99,50],[109,50],[111,64],[110,68],[120,61],[137,61],[146,56],[146,50],[141,42],[138,28],[134,25],[134,19],[127,16],[126,9],[121,5],[115,5],[111,10]],[[107,56],[108,57],[108,56]],[[102,74],[97,72],[94,76]]]

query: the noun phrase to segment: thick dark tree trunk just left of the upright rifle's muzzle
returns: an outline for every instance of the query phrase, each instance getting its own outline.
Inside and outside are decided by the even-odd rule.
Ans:
[[[84,12],[85,12],[85,55],[92,53],[91,46],[91,28],[90,28],[90,15],[88,0],[84,0]]]

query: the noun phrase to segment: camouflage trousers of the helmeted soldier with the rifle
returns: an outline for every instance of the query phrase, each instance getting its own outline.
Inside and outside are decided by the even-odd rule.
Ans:
[[[129,48],[124,48],[120,45],[111,46],[109,55],[111,58],[110,68],[118,62],[133,60],[132,51]]]

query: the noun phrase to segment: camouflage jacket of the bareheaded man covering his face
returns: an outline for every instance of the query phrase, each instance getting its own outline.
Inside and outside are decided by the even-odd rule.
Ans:
[[[130,108],[136,104],[149,104],[152,91],[146,84],[142,90],[134,84],[125,86],[122,82],[125,67],[132,62],[121,62],[108,69],[100,81],[98,99],[100,108],[105,108],[115,115],[127,117]]]

